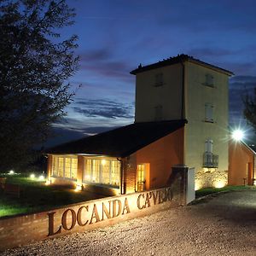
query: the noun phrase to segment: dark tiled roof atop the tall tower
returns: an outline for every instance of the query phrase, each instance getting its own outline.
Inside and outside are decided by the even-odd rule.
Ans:
[[[132,70],[130,73],[136,75],[137,73],[142,73],[144,71],[148,71],[148,70],[151,70],[151,69],[154,69],[154,68],[166,67],[166,66],[177,64],[177,63],[182,63],[184,61],[190,61],[190,62],[193,62],[195,64],[198,64],[198,65],[201,65],[201,66],[204,66],[204,67],[209,67],[209,68],[214,69],[215,71],[225,73],[229,76],[234,75],[234,73],[232,73],[232,72],[230,72],[230,71],[228,71],[224,68],[213,66],[212,64],[209,64],[207,62],[197,60],[193,56],[183,55],[183,54],[182,55],[177,55],[175,57],[170,57],[168,59],[164,59],[163,61],[158,61],[154,64],[150,64],[150,65],[147,65],[147,66],[144,66],[144,67],[140,64],[136,69]]]

